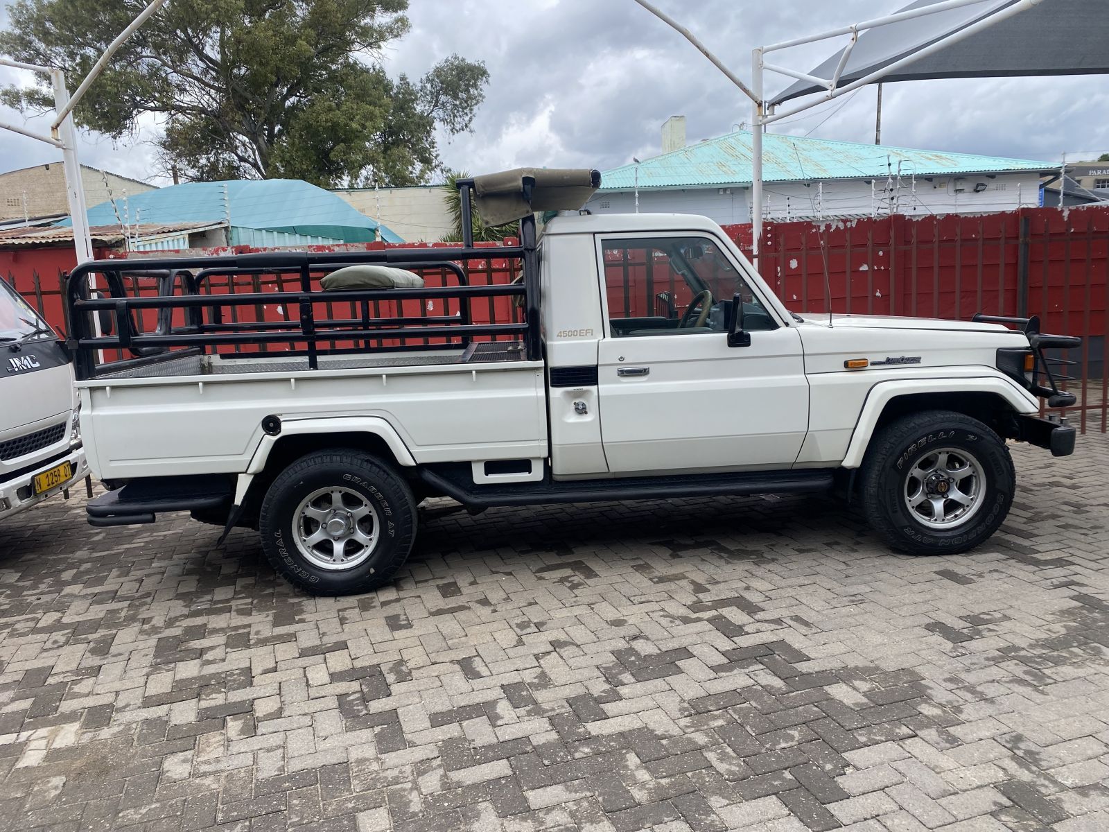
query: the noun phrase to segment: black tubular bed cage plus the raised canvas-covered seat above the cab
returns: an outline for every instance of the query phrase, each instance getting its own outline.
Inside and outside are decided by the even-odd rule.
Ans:
[[[166,358],[179,358],[215,349],[221,345],[288,344],[283,356],[307,356],[309,369],[318,369],[321,353],[326,355],[388,349],[466,348],[474,337],[522,337],[525,357],[542,357],[540,339],[540,281],[535,212],[576,210],[600,186],[600,173],[593,170],[518,169],[503,173],[464,179],[457,182],[461,197],[462,244],[442,248],[386,248],[366,252],[265,252],[221,257],[153,257],[145,260],[93,261],[74,268],[65,280],[67,346],[73,355],[78,379],[144,367]],[[519,221],[519,244],[477,247],[474,244],[471,199],[489,224]],[[460,264],[472,261],[517,261],[522,274],[507,284],[469,285]],[[420,288],[350,288],[322,292],[313,288],[313,274],[346,265],[379,264],[426,271],[441,270],[458,281],[458,286]],[[516,270],[513,268],[512,272]],[[296,291],[235,294],[233,282],[242,275],[296,275]],[[510,272],[511,273],[511,272]],[[108,294],[92,288],[90,278],[101,275]],[[129,295],[124,276],[141,275],[156,280],[155,295]],[[212,291],[211,278],[226,276],[228,294]],[[208,291],[203,290],[207,287]],[[282,285],[282,290],[283,290]],[[175,294],[175,292],[179,292]],[[479,297],[521,297],[523,323],[474,324],[469,302]],[[379,301],[449,300],[458,302],[458,315],[403,315],[375,317],[369,304]],[[333,303],[347,302],[358,317],[332,317]],[[315,305],[325,303],[327,317],[319,318]],[[282,305],[295,310],[285,321],[241,322],[235,311],[242,306]],[[398,306],[398,312],[400,307]],[[445,312],[449,307],[445,307]],[[140,326],[143,310],[156,311],[153,332]],[[205,321],[204,311],[210,321]],[[173,325],[180,311],[184,323]],[[224,312],[228,311],[232,322]],[[490,314],[490,318],[492,315]],[[99,324],[99,326],[98,326]],[[421,338],[423,344],[385,341]],[[444,339],[434,344],[431,338]],[[451,339],[458,338],[460,343]],[[362,342],[360,348],[339,347],[337,342]],[[378,342],[370,346],[369,342]],[[321,349],[321,342],[330,348]],[[306,348],[296,348],[304,344]],[[174,349],[175,347],[175,349]],[[131,358],[98,362],[98,351],[128,351]],[[172,349],[172,352],[171,352]]]

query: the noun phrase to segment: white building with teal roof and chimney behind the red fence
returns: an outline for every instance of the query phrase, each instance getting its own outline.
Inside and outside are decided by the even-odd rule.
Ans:
[[[663,125],[662,155],[606,171],[594,213],[702,214],[751,222],[751,133],[685,145],[685,120]],[[1040,175],[1024,159],[913,150],[766,133],[762,212],[767,220],[886,214],[980,214],[1040,204]]]

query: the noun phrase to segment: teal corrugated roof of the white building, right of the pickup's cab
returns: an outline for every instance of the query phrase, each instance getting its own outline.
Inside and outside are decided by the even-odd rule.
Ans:
[[[639,186],[696,187],[751,182],[751,132],[741,130],[639,163]],[[763,180],[766,182],[832,179],[934,176],[999,171],[1048,171],[1054,162],[979,156],[938,150],[891,148],[766,133],[763,135]],[[601,175],[602,191],[629,191],[635,184],[635,164]]]

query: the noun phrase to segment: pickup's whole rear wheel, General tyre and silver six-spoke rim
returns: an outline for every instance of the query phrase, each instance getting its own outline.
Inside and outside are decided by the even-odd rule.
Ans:
[[[266,558],[313,595],[368,592],[393,580],[416,537],[416,500],[387,464],[355,448],[308,454],[266,491]]]

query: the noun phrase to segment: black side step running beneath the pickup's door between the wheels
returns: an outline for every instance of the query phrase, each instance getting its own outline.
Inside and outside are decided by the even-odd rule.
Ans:
[[[465,474],[469,473],[467,467]],[[457,474],[458,476],[450,476]],[[803,494],[826,491],[833,486],[832,469],[699,474],[686,477],[624,477],[619,479],[552,480],[479,486],[467,483],[462,471],[421,468],[428,486],[467,508],[539,506],[551,503],[604,503],[654,500],[671,497],[722,495]]]

